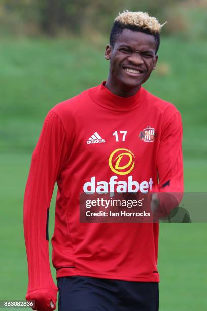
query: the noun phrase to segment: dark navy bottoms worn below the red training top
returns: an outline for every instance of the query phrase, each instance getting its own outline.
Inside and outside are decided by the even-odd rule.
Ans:
[[[157,282],[119,281],[89,276],[57,279],[59,311],[158,311]]]

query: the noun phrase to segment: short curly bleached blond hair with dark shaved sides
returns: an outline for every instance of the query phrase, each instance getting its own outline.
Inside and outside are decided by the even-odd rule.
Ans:
[[[143,32],[153,35],[156,41],[156,53],[160,45],[161,28],[166,24],[160,24],[157,18],[150,16],[144,12],[130,12],[128,10],[119,13],[114,19],[114,24],[110,33],[110,45],[114,46],[118,36],[124,29],[129,29],[137,32]]]

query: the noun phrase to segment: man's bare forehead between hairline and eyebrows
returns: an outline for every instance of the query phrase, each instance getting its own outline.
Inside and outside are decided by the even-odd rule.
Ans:
[[[154,49],[156,50],[155,37],[142,32],[124,29],[117,37],[115,45],[128,45],[132,49]]]

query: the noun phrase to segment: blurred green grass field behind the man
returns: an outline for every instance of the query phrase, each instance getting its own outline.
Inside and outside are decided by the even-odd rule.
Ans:
[[[2,41],[0,300],[25,298],[23,195],[31,153],[44,117],[56,103],[106,80],[108,64],[103,59],[104,46],[75,39]],[[161,65],[145,85],[181,111],[185,190],[189,192],[206,192],[206,53],[206,42],[164,38],[159,53]],[[163,63],[167,64],[164,75]],[[54,197],[55,193],[50,237],[54,226]],[[205,223],[160,225],[161,311],[207,309],[206,229]]]

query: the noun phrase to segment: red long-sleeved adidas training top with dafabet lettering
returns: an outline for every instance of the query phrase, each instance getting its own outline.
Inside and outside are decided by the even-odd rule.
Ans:
[[[101,188],[122,192],[132,181],[142,193],[153,186],[162,191],[163,185],[182,192],[181,116],[143,87],[123,98],[104,85],[59,103],[44,121],[24,197],[27,295],[53,284],[46,227],[55,182],[52,262],[57,277],[159,282],[159,224],[80,223],[79,195]],[[130,163],[121,163],[126,157]]]

